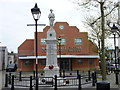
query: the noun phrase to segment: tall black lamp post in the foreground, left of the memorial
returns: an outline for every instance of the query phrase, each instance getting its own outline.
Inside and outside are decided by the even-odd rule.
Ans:
[[[36,90],[38,90],[38,47],[37,47],[37,21],[40,18],[41,15],[41,11],[37,6],[37,3],[35,4],[34,8],[31,9],[31,13],[33,15],[33,18],[35,20],[35,27],[36,27],[36,31],[35,31],[35,44],[36,44]]]

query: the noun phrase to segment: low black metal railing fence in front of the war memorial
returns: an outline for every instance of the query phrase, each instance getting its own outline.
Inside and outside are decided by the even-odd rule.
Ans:
[[[71,73],[72,72],[68,73],[67,71],[65,73],[65,71],[63,71],[61,74],[62,77],[57,77],[56,75],[54,77],[39,76],[39,87],[53,87],[54,90],[57,90],[58,87],[77,86],[80,90],[82,85],[91,84],[95,86],[97,82],[96,72],[91,74],[91,72],[88,71],[88,74],[80,75],[77,71],[77,73],[72,73],[73,76],[71,76]],[[30,90],[33,90],[36,84],[36,78],[34,73],[30,75],[31,76],[27,75],[26,77],[22,75],[22,72],[19,72],[17,75],[6,74],[5,87],[9,86],[11,90],[14,90],[15,87],[28,87]]]

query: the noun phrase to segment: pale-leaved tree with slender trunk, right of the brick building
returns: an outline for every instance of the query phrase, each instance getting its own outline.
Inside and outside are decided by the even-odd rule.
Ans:
[[[118,6],[116,3],[113,3],[111,0],[77,0],[78,6],[86,8],[86,11],[94,11],[93,17],[90,17],[87,20],[87,24],[90,26],[91,36],[94,40],[98,41],[98,46],[100,49],[100,60],[102,63],[102,80],[106,80],[106,62],[105,62],[105,38],[109,36],[109,29],[106,28],[105,23],[109,23],[109,19],[105,20],[115,8]],[[112,6],[112,7],[111,7]],[[99,12],[98,12],[99,8]],[[97,13],[95,13],[97,12]],[[107,33],[106,33],[107,32]],[[100,47],[101,45],[101,47]]]

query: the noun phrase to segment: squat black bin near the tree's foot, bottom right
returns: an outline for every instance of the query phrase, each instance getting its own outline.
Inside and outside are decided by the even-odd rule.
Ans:
[[[98,82],[96,90],[110,90],[109,82]]]

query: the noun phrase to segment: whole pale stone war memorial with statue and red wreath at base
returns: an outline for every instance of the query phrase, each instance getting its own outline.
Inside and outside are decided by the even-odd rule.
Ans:
[[[46,67],[44,68],[45,77],[54,77],[54,75],[59,76],[59,67],[57,65],[57,39],[56,32],[53,29],[55,15],[50,9],[50,14],[48,16],[50,29],[47,32],[46,39]]]

